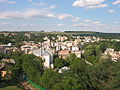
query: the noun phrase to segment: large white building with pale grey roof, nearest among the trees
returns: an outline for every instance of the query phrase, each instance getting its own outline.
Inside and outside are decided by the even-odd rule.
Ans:
[[[33,50],[35,56],[41,57],[44,61],[44,67],[53,68],[53,53],[45,48]]]

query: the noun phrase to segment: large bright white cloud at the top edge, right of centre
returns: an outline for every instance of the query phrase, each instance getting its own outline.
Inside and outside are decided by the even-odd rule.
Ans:
[[[105,0],[76,0],[73,2],[74,7],[85,7],[85,8],[104,8],[107,4],[103,4]]]

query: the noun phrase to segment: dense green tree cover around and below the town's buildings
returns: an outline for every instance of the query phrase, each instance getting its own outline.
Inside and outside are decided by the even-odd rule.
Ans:
[[[16,38],[19,42],[24,40],[42,41],[42,36],[28,38],[19,34]],[[1,38],[2,37],[2,38]],[[51,37],[51,35],[49,35]],[[2,43],[8,43],[6,36],[0,36]],[[17,41],[11,41],[16,43]],[[119,42],[103,41],[86,44],[83,49],[85,53],[82,58],[77,58],[75,54],[70,54],[65,60],[56,57],[54,59],[55,69],[43,67],[42,59],[34,55],[24,55],[22,53],[0,54],[0,60],[10,58],[15,60],[14,65],[6,68],[12,71],[12,80],[19,80],[25,75],[31,81],[48,90],[119,90],[120,89],[120,60],[113,62],[110,58],[101,58],[106,48],[120,50]],[[87,64],[89,61],[91,64]],[[58,73],[56,69],[68,66],[70,69],[63,73]],[[9,80],[2,80],[0,73],[0,83]]]

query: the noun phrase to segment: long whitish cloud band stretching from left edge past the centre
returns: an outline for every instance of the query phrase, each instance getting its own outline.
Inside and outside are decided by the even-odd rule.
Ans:
[[[0,19],[35,19],[35,18],[55,18],[59,20],[70,19],[72,21],[80,20],[79,17],[70,14],[55,14],[45,9],[25,9],[22,11],[0,11]]]

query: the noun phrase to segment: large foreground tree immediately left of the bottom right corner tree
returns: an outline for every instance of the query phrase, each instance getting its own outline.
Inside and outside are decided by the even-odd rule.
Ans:
[[[87,64],[84,59],[76,59],[70,65],[70,71],[66,75],[70,75],[79,80],[81,84],[80,90],[95,89],[91,83],[91,74],[93,74],[93,66]]]

